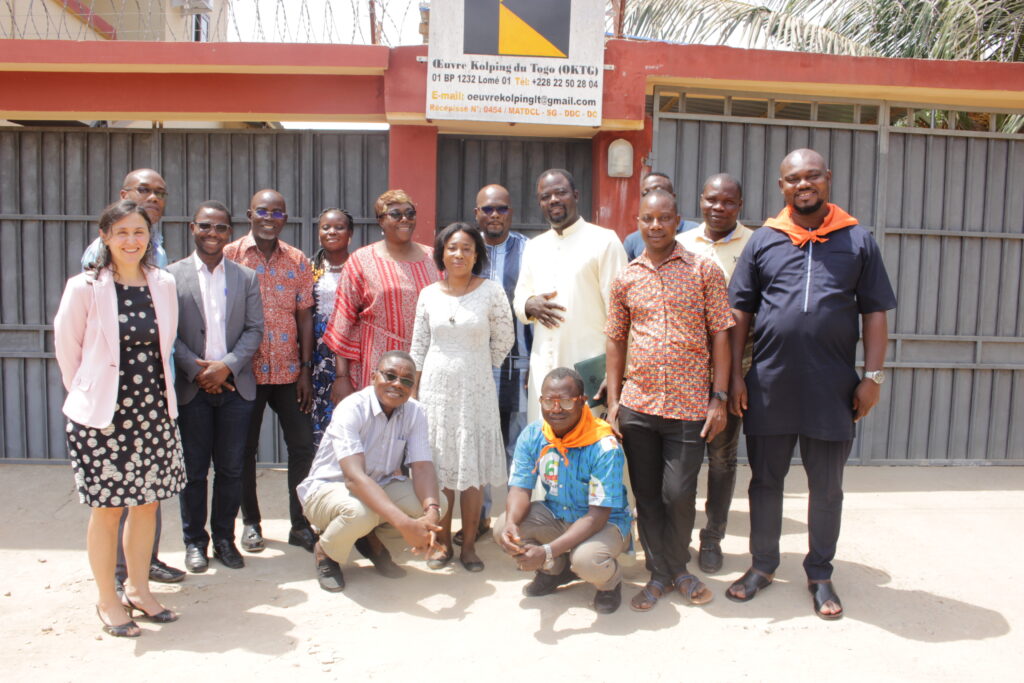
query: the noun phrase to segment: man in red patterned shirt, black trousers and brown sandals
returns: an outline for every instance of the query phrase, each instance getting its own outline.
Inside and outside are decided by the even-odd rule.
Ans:
[[[705,441],[726,424],[726,331],[735,323],[721,269],[676,242],[679,220],[669,193],[656,189],[640,201],[644,251],[612,284],[604,328],[608,422],[617,420],[622,432],[651,572],[630,601],[637,611],[651,609],[669,590],[692,604],[713,597],[686,563]]]

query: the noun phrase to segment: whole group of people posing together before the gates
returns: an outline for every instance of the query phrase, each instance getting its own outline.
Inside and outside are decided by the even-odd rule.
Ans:
[[[484,569],[476,543],[489,530],[536,572],[525,595],[583,580],[594,608],[612,612],[635,512],[650,579],[630,606],[652,609],[675,591],[707,603],[710,588],[688,568],[697,477],[707,455],[697,563],[714,573],[742,423],[752,563],[726,597],[750,600],[773,580],[799,442],[814,611],[842,616],[830,561],[843,466],[854,423],[879,400],[895,296],[870,233],[829,203],[830,179],[820,155],[791,153],[785,207],[751,230],[738,222],[740,182],[713,175],[703,222],[682,229],[671,179],[648,174],[632,259],[614,231],[581,217],[562,169],[539,177],[550,229],[532,240],[510,229],[509,191],[487,185],[475,225],[418,244],[416,206],[393,189],[375,205],[379,242],[349,254],[352,217],[331,208],[311,260],[280,239],[286,201],[263,189],[233,242],[228,209],[201,204],[195,252],[164,271],[166,185],[152,169],[129,173],[54,321],[104,631],[137,636],[136,611],[177,618],[147,583],[184,575],[157,557],[161,500],[181,495],[189,571],[208,568],[211,539],[216,559],[244,566],[240,509],[243,550],[263,550],[256,455],[267,405],[288,447],[288,542],[313,554],[326,591],[344,589],[353,547],[381,574],[404,573],[381,524],[431,568],[461,546],[471,572]],[[588,390],[595,367],[604,381]],[[505,484],[492,529],[492,489]]]

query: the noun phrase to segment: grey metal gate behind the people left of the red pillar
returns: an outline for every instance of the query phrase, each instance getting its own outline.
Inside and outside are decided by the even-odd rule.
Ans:
[[[96,216],[124,175],[142,167],[167,181],[162,225],[172,260],[191,251],[186,228],[197,204],[223,201],[238,238],[248,230],[249,199],[263,187],[288,202],[282,239],[311,254],[315,218],[329,206],[355,217],[353,248],[368,241],[373,202],[387,188],[387,133],[0,130],[0,461],[67,457],[53,314]],[[279,431],[276,420],[264,420],[260,461],[286,460]]]

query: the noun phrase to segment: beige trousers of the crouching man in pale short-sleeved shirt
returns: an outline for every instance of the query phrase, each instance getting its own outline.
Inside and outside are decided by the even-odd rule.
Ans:
[[[392,480],[383,488],[391,502],[407,515],[413,519],[423,516],[423,504],[416,496],[412,479]],[[438,503],[443,517],[447,501],[441,496]],[[339,563],[348,559],[356,541],[386,523],[362,501],[352,496],[348,486],[343,483],[322,485],[302,509],[306,519],[319,529],[321,548],[328,557]]]

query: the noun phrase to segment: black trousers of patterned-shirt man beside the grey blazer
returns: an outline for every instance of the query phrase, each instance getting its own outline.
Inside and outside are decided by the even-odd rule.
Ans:
[[[309,415],[299,410],[294,382],[256,385],[256,400],[253,401],[242,467],[242,521],[259,524],[263,520],[256,497],[256,456],[259,452],[259,430],[263,426],[263,410],[267,405],[278,414],[285,445],[288,446],[288,510],[292,527],[305,528],[309,522],[302,514],[302,504],[295,487],[309,474],[309,466],[313,462],[313,423]]]

